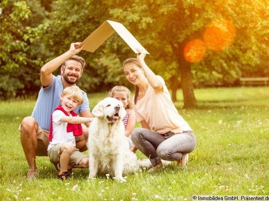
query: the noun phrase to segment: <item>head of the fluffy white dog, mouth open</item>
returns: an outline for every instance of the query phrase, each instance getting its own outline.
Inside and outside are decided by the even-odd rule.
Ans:
[[[99,119],[106,120],[108,123],[117,122],[126,116],[123,103],[115,98],[105,98],[100,101],[93,109],[92,115]]]

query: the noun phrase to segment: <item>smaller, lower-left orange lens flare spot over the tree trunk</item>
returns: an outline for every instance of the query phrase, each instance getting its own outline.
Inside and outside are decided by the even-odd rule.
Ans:
[[[184,47],[184,58],[190,63],[199,62],[204,58],[206,50],[207,48],[203,40],[191,40]]]

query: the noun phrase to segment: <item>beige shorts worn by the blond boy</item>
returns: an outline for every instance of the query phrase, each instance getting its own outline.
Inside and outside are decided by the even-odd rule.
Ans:
[[[61,146],[62,144],[54,145],[49,151],[48,151],[48,156],[50,157],[51,162],[57,165],[57,163],[60,162],[60,156],[61,156]],[[69,163],[70,165],[78,165],[78,163],[85,157],[88,157],[84,154],[82,154],[79,149],[74,149],[70,156]]]

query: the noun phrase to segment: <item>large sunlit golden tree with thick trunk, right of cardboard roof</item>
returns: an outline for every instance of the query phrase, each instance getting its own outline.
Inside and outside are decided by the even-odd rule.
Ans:
[[[122,2],[117,2],[110,13],[135,30],[139,41],[152,53],[152,60],[164,61],[162,72],[177,61],[185,107],[196,106],[192,75],[196,80],[201,80],[201,76],[233,82],[245,66],[254,67],[263,55],[268,55],[266,0],[133,0],[122,7]],[[204,40],[207,27],[218,20],[232,22],[236,28],[234,42],[222,51],[208,49],[199,63],[187,62],[183,55],[185,45],[193,39]],[[177,70],[171,71],[170,85],[177,85],[177,74]]]

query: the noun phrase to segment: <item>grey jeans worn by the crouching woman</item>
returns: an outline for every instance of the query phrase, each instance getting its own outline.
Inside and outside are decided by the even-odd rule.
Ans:
[[[196,145],[196,138],[191,130],[161,135],[146,128],[135,128],[131,135],[134,145],[150,159],[153,166],[161,162],[161,159],[181,160],[183,155],[191,153]]]

